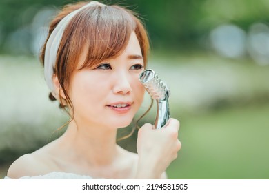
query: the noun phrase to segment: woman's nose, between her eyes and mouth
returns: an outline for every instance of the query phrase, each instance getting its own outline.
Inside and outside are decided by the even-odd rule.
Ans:
[[[131,92],[132,87],[130,85],[130,79],[128,77],[128,72],[119,72],[115,74],[114,77],[114,94],[128,94]]]

